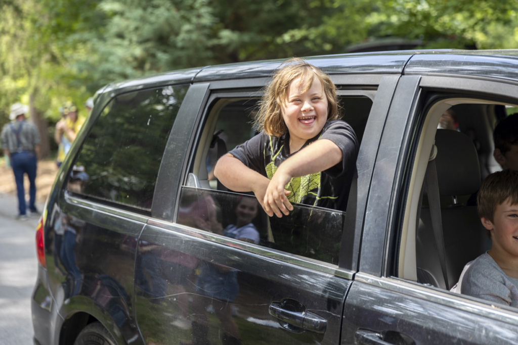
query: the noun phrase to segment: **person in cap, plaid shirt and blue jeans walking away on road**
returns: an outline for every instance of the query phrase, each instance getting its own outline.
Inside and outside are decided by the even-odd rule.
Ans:
[[[39,132],[32,122],[25,121],[28,107],[21,103],[11,106],[9,113],[10,123],[2,129],[2,147],[4,154],[11,161],[12,171],[15,174],[18,194],[18,219],[27,219],[27,205],[23,176],[29,179],[29,209],[32,214],[39,214],[35,206],[36,201],[36,160],[39,156]]]

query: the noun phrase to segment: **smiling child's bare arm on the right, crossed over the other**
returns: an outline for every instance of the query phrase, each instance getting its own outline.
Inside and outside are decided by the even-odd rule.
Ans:
[[[290,179],[327,170],[341,162],[342,159],[342,150],[328,139],[317,140],[286,159],[279,166],[266,189],[261,204],[265,212],[270,217],[274,213],[279,218],[282,217],[282,213],[288,215],[288,210],[292,211],[293,206],[286,198],[284,186],[290,182]],[[258,197],[257,199],[261,201]]]

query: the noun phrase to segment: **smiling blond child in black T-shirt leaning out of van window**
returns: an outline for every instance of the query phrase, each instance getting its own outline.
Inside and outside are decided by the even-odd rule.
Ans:
[[[289,59],[266,87],[255,119],[261,132],[221,157],[214,175],[231,190],[253,191],[270,217],[288,215],[293,202],[345,211],[358,141],[338,118],[327,74]]]

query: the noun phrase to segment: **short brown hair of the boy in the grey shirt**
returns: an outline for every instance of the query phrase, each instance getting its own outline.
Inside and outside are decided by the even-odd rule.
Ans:
[[[506,169],[488,175],[477,195],[479,217],[493,222],[496,207],[508,199],[518,204],[518,171]],[[491,238],[489,231],[487,234]]]

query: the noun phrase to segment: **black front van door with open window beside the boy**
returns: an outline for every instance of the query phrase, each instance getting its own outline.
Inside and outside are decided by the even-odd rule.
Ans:
[[[420,59],[426,60],[426,57]],[[448,57],[434,56],[433,59],[444,61]],[[359,272],[351,284],[344,306],[342,344],[516,343],[518,313],[514,308],[434,287],[433,284],[419,281],[419,273],[416,273],[416,258],[419,260],[420,257],[416,247],[419,248],[419,229],[422,228],[423,217],[421,215],[420,219],[418,214],[416,218],[414,206],[418,204],[425,179],[423,168],[426,169],[428,160],[431,160],[430,148],[433,147],[441,113],[449,107],[463,109],[459,106],[465,104],[472,106],[470,111],[476,108],[485,111],[495,105],[504,107],[518,102],[515,82],[463,78],[463,73],[476,74],[484,65],[477,67],[476,61],[468,63],[469,59],[462,56],[457,60],[457,66],[464,64],[466,67],[451,68],[449,72],[456,71],[453,76],[438,76],[439,69],[434,71],[435,75],[421,76],[420,73],[426,70],[422,66],[433,64],[410,63],[409,75],[401,77],[398,83],[373,172]],[[444,71],[444,68],[440,70]],[[498,74],[498,70],[492,73]],[[501,76],[512,77],[509,72]],[[473,116],[471,113],[466,115]],[[430,118],[434,118],[435,122]],[[483,121],[483,117],[480,118]],[[485,135],[490,137],[491,125],[485,126],[488,128]],[[471,134],[473,147],[481,143],[480,137],[476,140],[473,127],[461,127],[454,134],[458,131]],[[428,149],[422,149],[423,142],[428,142]],[[437,142],[436,145],[439,146]],[[477,148],[479,155],[482,155],[483,145]],[[462,156],[457,158],[464,159]],[[445,214],[463,213],[469,209],[456,199],[452,201],[450,198],[448,202],[454,205],[443,209],[443,228],[449,228],[452,222]],[[477,217],[476,212],[473,217]],[[456,225],[463,227],[468,220],[459,221]],[[474,223],[477,222],[476,219]],[[432,236],[422,248],[436,256],[439,243]],[[466,235],[450,241],[449,235],[444,233],[446,259],[467,253],[469,248],[464,245],[467,243],[470,241]],[[451,252],[452,249],[455,253]],[[461,263],[461,269],[469,260],[472,259]],[[451,279],[452,273],[448,272],[448,276]],[[442,275],[437,280],[440,282]]]

